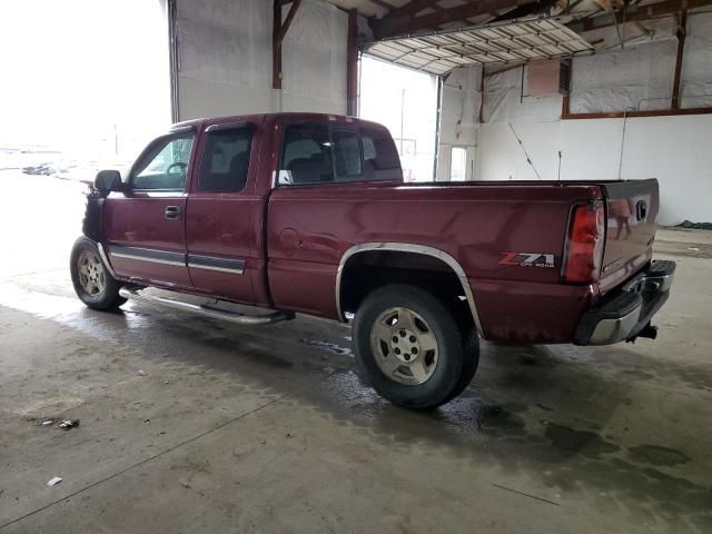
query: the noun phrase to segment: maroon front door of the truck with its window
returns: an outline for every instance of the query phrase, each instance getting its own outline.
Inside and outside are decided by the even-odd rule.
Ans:
[[[191,288],[186,265],[186,199],[195,158],[195,128],[151,142],[126,188],[105,205],[111,265],[120,276]]]

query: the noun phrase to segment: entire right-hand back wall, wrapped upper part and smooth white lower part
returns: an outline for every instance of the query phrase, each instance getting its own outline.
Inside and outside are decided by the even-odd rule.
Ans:
[[[645,26],[655,30],[654,36],[641,37],[627,28],[625,50],[611,49],[574,60],[572,112],[669,109],[676,51],[674,24],[661,20]],[[605,31],[606,43],[615,43],[617,34],[610,34],[614,30],[602,33]],[[451,77],[452,83],[457,87],[462,77]],[[467,98],[478,107],[478,82],[476,87],[476,96]],[[689,16],[681,93],[683,108],[712,106],[712,13]],[[457,132],[454,117],[462,109],[457,96],[454,90],[443,96],[443,144]],[[510,128],[512,123],[542,179],[557,178],[558,151],[564,180],[616,179],[622,154],[621,178],[660,181],[661,224],[712,220],[712,150],[708,148],[712,115],[629,118],[621,150],[623,119],[561,120],[561,95],[526,96],[526,78],[522,97],[521,69],[487,77],[484,123],[467,132],[472,138],[474,131],[477,146],[474,179],[537,179]],[[449,170],[444,151],[438,179],[447,179]]]

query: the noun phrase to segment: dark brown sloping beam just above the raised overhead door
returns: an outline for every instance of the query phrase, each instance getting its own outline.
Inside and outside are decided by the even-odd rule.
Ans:
[[[417,0],[414,0],[406,6],[415,4],[416,1]],[[375,22],[374,29],[376,38],[384,39],[399,34],[415,33],[423,30],[434,30],[448,22],[461,22],[472,17],[477,17],[478,14],[491,13],[507,8],[516,8],[517,6],[525,3],[531,3],[531,0],[478,0],[476,2],[464,3],[455,8],[439,9],[433,13],[422,14],[421,17],[384,17],[379,21]],[[422,7],[422,4],[417,4],[416,7]],[[423,11],[423,9],[424,8],[416,12]]]

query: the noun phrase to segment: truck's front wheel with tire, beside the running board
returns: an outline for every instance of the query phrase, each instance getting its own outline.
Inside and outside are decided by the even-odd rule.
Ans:
[[[101,260],[97,244],[81,236],[75,241],[69,260],[75,293],[91,309],[116,309],[126,303],[119,296],[121,284],[116,280]]]

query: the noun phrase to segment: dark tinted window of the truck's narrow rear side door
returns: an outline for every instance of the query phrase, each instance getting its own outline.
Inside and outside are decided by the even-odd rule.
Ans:
[[[247,185],[253,127],[208,128],[198,177],[198,191],[239,192]]]

